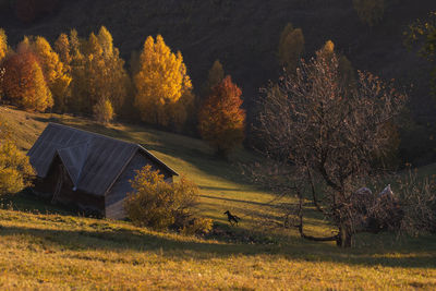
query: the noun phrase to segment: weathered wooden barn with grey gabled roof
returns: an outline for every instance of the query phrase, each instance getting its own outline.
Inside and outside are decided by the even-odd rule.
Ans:
[[[168,182],[178,175],[138,144],[49,123],[27,154],[35,190],[53,202],[112,219],[125,217],[123,199],[135,170],[152,165]]]

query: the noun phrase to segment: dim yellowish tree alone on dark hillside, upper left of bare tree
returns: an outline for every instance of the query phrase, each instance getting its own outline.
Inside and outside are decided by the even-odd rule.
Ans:
[[[280,35],[279,41],[279,62],[287,72],[295,71],[296,65],[304,51],[304,36],[301,28],[293,28],[288,23]]]

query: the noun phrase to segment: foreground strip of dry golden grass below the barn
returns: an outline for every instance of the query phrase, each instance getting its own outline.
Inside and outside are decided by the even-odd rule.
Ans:
[[[14,210],[0,210],[0,226],[2,289],[436,288],[434,238],[421,241],[426,247],[410,250],[402,248],[404,242],[389,250],[389,240],[387,247],[378,242],[376,250],[348,251],[301,242],[239,244]]]

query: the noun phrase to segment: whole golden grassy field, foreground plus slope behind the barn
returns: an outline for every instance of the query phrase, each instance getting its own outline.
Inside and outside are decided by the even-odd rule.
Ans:
[[[280,205],[289,201],[275,199],[240,174],[238,163],[256,159],[242,149],[225,162],[197,140],[143,126],[102,128],[10,108],[0,108],[0,116],[23,150],[49,121],[143,144],[199,185],[198,211],[226,234],[157,233],[80,217],[22,193],[4,197],[0,207],[1,289],[436,289],[436,237],[362,234],[352,250],[303,241],[279,227]],[[243,218],[239,228],[227,226],[227,209]],[[307,222],[312,233],[329,231],[315,216]]]

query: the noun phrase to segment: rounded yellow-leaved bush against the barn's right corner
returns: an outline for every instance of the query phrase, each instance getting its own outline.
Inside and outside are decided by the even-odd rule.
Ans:
[[[124,209],[134,225],[186,234],[210,230],[211,221],[194,217],[193,208],[199,196],[193,182],[181,178],[168,183],[164,174],[145,166],[131,183],[134,192],[128,194]]]

